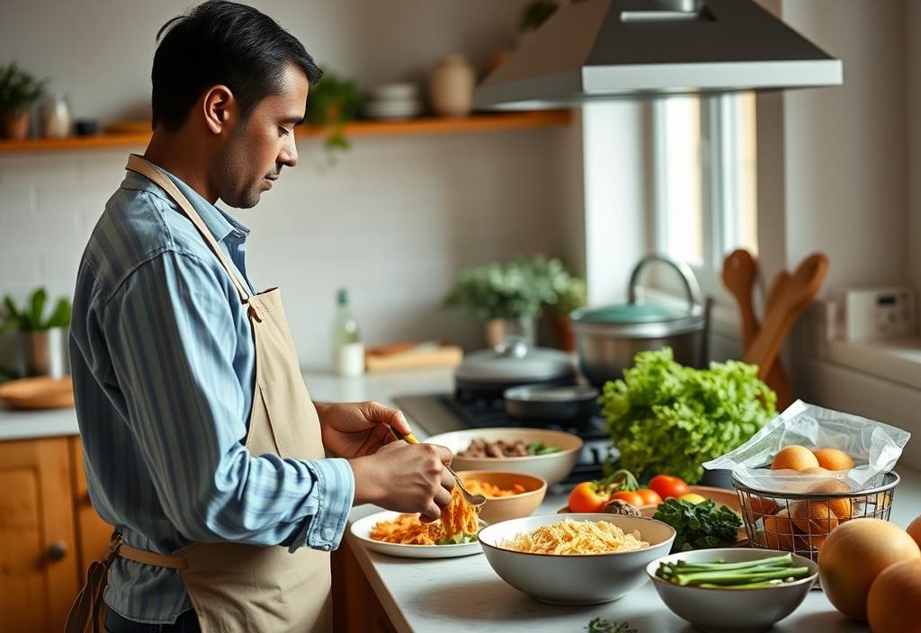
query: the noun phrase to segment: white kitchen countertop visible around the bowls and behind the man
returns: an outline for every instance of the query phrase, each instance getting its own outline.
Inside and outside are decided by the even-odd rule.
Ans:
[[[375,399],[390,403],[395,396],[447,393],[449,370],[367,374],[341,378],[305,371],[311,396],[318,401]],[[414,432],[425,439],[426,420],[410,420]],[[22,412],[0,409],[0,441],[77,433],[74,409]],[[921,472],[898,467],[902,482],[895,490],[892,522],[907,525],[921,512]],[[535,513],[552,513],[565,503],[548,496]],[[355,520],[378,508],[362,506],[352,512]],[[583,631],[596,616],[629,621],[639,633],[690,632],[694,628],[659,600],[647,582],[619,601],[596,606],[563,607],[542,604],[519,593],[499,579],[482,554],[464,558],[418,560],[391,558],[368,552],[351,535],[356,557],[399,631],[521,631],[561,633]],[[778,623],[775,631],[867,631],[868,627],[846,620],[834,610],[821,591],[813,591],[799,609]]]

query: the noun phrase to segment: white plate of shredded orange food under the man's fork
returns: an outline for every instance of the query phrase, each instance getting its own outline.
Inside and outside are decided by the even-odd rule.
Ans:
[[[458,489],[441,518],[424,524],[418,514],[376,512],[352,524],[352,534],[365,547],[390,556],[454,558],[483,551],[477,539],[480,520],[476,509],[463,501]]]

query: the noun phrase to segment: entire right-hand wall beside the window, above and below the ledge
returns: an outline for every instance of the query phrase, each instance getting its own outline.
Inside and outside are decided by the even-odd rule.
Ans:
[[[768,274],[822,251],[830,261],[823,294],[908,282],[921,290],[921,3],[779,5],[787,24],[844,61],[845,83],[759,98],[759,239]],[[821,306],[810,309],[788,345],[800,397],[921,432],[921,391],[822,358],[823,317]],[[919,466],[914,444],[903,461]]]

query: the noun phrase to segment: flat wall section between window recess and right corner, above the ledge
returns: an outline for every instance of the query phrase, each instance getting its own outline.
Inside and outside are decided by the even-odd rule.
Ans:
[[[844,61],[844,86],[784,96],[787,267],[829,257],[825,288],[908,281],[903,2],[787,0],[783,17]]]

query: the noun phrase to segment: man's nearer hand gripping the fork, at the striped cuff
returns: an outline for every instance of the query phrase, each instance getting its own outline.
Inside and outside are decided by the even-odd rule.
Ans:
[[[420,512],[431,523],[451,501],[454,478],[444,467],[450,451],[434,444],[391,443],[375,455],[349,460],[355,504],[374,503],[396,512]]]

